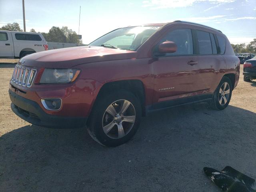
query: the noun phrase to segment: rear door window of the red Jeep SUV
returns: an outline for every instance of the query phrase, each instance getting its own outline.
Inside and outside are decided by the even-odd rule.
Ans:
[[[200,54],[212,54],[212,42],[210,34],[208,32],[196,30],[199,53]]]

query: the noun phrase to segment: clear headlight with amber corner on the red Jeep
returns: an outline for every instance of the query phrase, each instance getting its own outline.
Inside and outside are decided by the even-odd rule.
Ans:
[[[49,69],[45,68],[40,83],[69,83],[76,80],[79,69]]]

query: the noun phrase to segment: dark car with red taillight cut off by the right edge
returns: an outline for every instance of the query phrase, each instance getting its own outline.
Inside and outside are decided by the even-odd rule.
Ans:
[[[256,56],[244,62],[244,81],[256,79]]]

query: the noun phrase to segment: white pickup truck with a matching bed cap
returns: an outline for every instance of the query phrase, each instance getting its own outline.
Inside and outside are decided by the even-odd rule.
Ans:
[[[22,58],[45,50],[48,44],[40,33],[0,30],[0,58]]]

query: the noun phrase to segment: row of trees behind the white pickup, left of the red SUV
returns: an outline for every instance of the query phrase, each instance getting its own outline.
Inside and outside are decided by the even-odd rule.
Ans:
[[[20,25],[16,22],[8,23],[0,28],[0,30],[7,30],[7,31],[23,31],[20,28]],[[30,32],[36,32],[33,28]],[[40,33],[40,32],[38,32]],[[41,32],[44,36],[46,41],[49,42],[61,42],[61,43],[79,43],[82,44],[82,40],[78,39],[78,34],[72,29],[68,29],[67,26],[62,26],[62,28],[52,26],[48,33]]]

